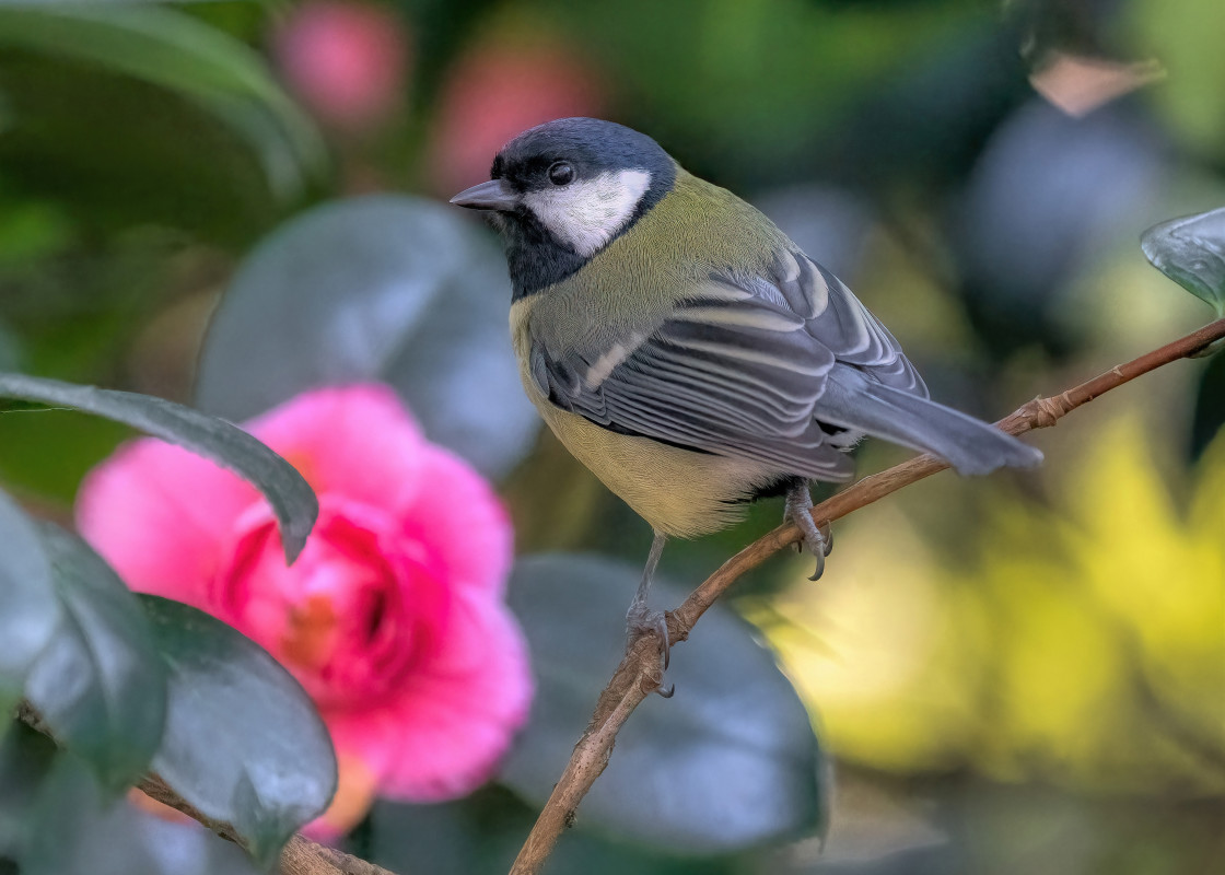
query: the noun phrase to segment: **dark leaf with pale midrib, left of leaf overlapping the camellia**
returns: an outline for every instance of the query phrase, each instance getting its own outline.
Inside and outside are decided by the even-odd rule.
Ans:
[[[165,670],[136,597],[81,539],[42,528],[60,624],[26,683],[55,739],[113,789],[148,767],[165,719]]]

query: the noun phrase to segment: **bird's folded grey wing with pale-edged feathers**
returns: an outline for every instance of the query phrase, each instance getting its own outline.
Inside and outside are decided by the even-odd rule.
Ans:
[[[532,349],[550,401],[620,431],[820,479],[850,462],[816,422],[838,366],[925,393],[897,341],[832,273],[784,252],[768,276],[710,277],[654,331],[606,349]]]

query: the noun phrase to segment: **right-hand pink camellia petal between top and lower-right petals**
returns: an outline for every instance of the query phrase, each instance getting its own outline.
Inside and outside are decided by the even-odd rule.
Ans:
[[[452,586],[501,594],[514,553],[514,529],[502,502],[468,463],[430,445],[423,455],[423,488],[404,512],[407,537],[430,550]]]

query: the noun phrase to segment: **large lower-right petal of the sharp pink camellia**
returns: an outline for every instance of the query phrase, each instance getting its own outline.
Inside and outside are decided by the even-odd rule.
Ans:
[[[394,700],[366,712],[326,713],[332,740],[405,801],[452,799],[494,773],[528,716],[532,675],[523,635],[501,603],[456,591],[447,651]]]

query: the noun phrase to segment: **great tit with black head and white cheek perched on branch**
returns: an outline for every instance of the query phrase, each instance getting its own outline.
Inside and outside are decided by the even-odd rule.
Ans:
[[[888,328],[755,207],[687,173],[653,138],[589,118],[511,140],[451,203],[488,213],[511,277],[528,397],[557,439],[653,529],[627,615],[647,605],[669,537],[785,495],[821,576],[829,532],[811,480],[851,478],[864,436],[963,474],[1042,453],[936,403]]]

